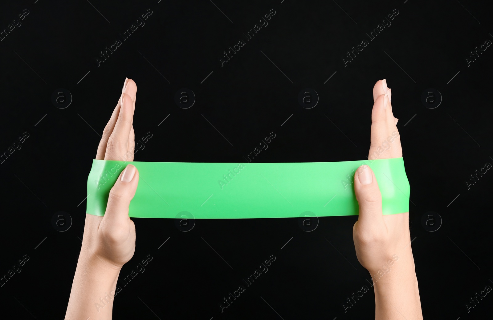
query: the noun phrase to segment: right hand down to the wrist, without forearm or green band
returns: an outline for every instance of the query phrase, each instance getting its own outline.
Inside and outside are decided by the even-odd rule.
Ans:
[[[390,103],[391,90],[386,81],[373,88],[374,105],[371,114],[370,152],[368,160],[402,157],[399,131]],[[391,142],[390,142],[391,141]],[[409,212],[382,214],[382,195],[370,167],[363,165],[354,175],[354,192],[359,204],[358,221],[353,227],[354,247],[359,263],[378,281],[392,269],[413,259]],[[404,250],[404,247],[406,249]],[[396,262],[398,260],[398,262]]]

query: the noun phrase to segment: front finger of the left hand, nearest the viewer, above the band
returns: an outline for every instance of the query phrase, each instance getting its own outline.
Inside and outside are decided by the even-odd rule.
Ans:
[[[105,160],[126,161],[128,139],[132,128],[132,118],[134,110],[131,106],[130,96],[122,93],[120,112],[113,128],[113,132],[108,137],[106,144]]]

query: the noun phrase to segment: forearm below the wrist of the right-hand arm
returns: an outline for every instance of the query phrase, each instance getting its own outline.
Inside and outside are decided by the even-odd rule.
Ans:
[[[374,283],[375,319],[423,320],[412,254],[401,257],[395,264],[389,273]]]

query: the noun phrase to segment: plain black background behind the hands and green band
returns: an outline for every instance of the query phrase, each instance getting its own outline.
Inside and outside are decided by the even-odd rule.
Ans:
[[[136,141],[153,134],[134,160],[178,162],[242,162],[270,132],[277,136],[255,162],[367,159],[372,88],[386,78],[411,185],[424,319],[491,318],[493,292],[466,306],[493,285],[493,173],[470,189],[466,184],[493,163],[493,47],[470,66],[466,61],[493,41],[486,1],[157,2],[1,4],[0,29],[29,10],[0,41],[0,152],[29,133],[0,167],[1,275],[29,256],[0,288],[2,312],[64,317],[87,175],[125,77],[138,86]],[[145,25],[123,41],[119,33],[148,8]],[[223,52],[245,40],[242,33],[271,8],[268,25],[221,67]],[[370,41],[366,33],[395,8],[391,25]],[[101,51],[117,39],[123,44],[98,66]],[[369,44],[345,66],[343,58],[363,39]],[[72,96],[65,109],[52,103],[58,88]],[[195,93],[191,108],[175,103],[180,88]],[[304,88],[317,91],[316,107],[298,103]],[[422,103],[428,88],[440,92],[438,107]],[[65,232],[52,225],[58,211],[73,220]],[[438,225],[433,213],[433,232],[422,223],[429,211],[442,219]],[[313,232],[295,218],[196,220],[182,232],[172,219],[134,218],[137,249],[120,278],[147,255],[153,259],[126,287],[119,281],[114,319],[373,319],[371,277],[352,240],[356,219],[322,217]],[[271,255],[269,271],[221,313],[223,298]],[[370,290],[344,312],[363,286]]]

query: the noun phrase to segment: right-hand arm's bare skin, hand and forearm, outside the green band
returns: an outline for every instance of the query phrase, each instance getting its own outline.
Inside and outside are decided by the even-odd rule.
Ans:
[[[390,97],[385,79],[378,81],[373,87],[370,161],[402,157],[398,119],[393,116]],[[359,204],[352,229],[354,248],[358,261],[373,279],[376,319],[423,319],[409,212],[382,214],[382,194],[367,165],[354,174],[354,193]]]

